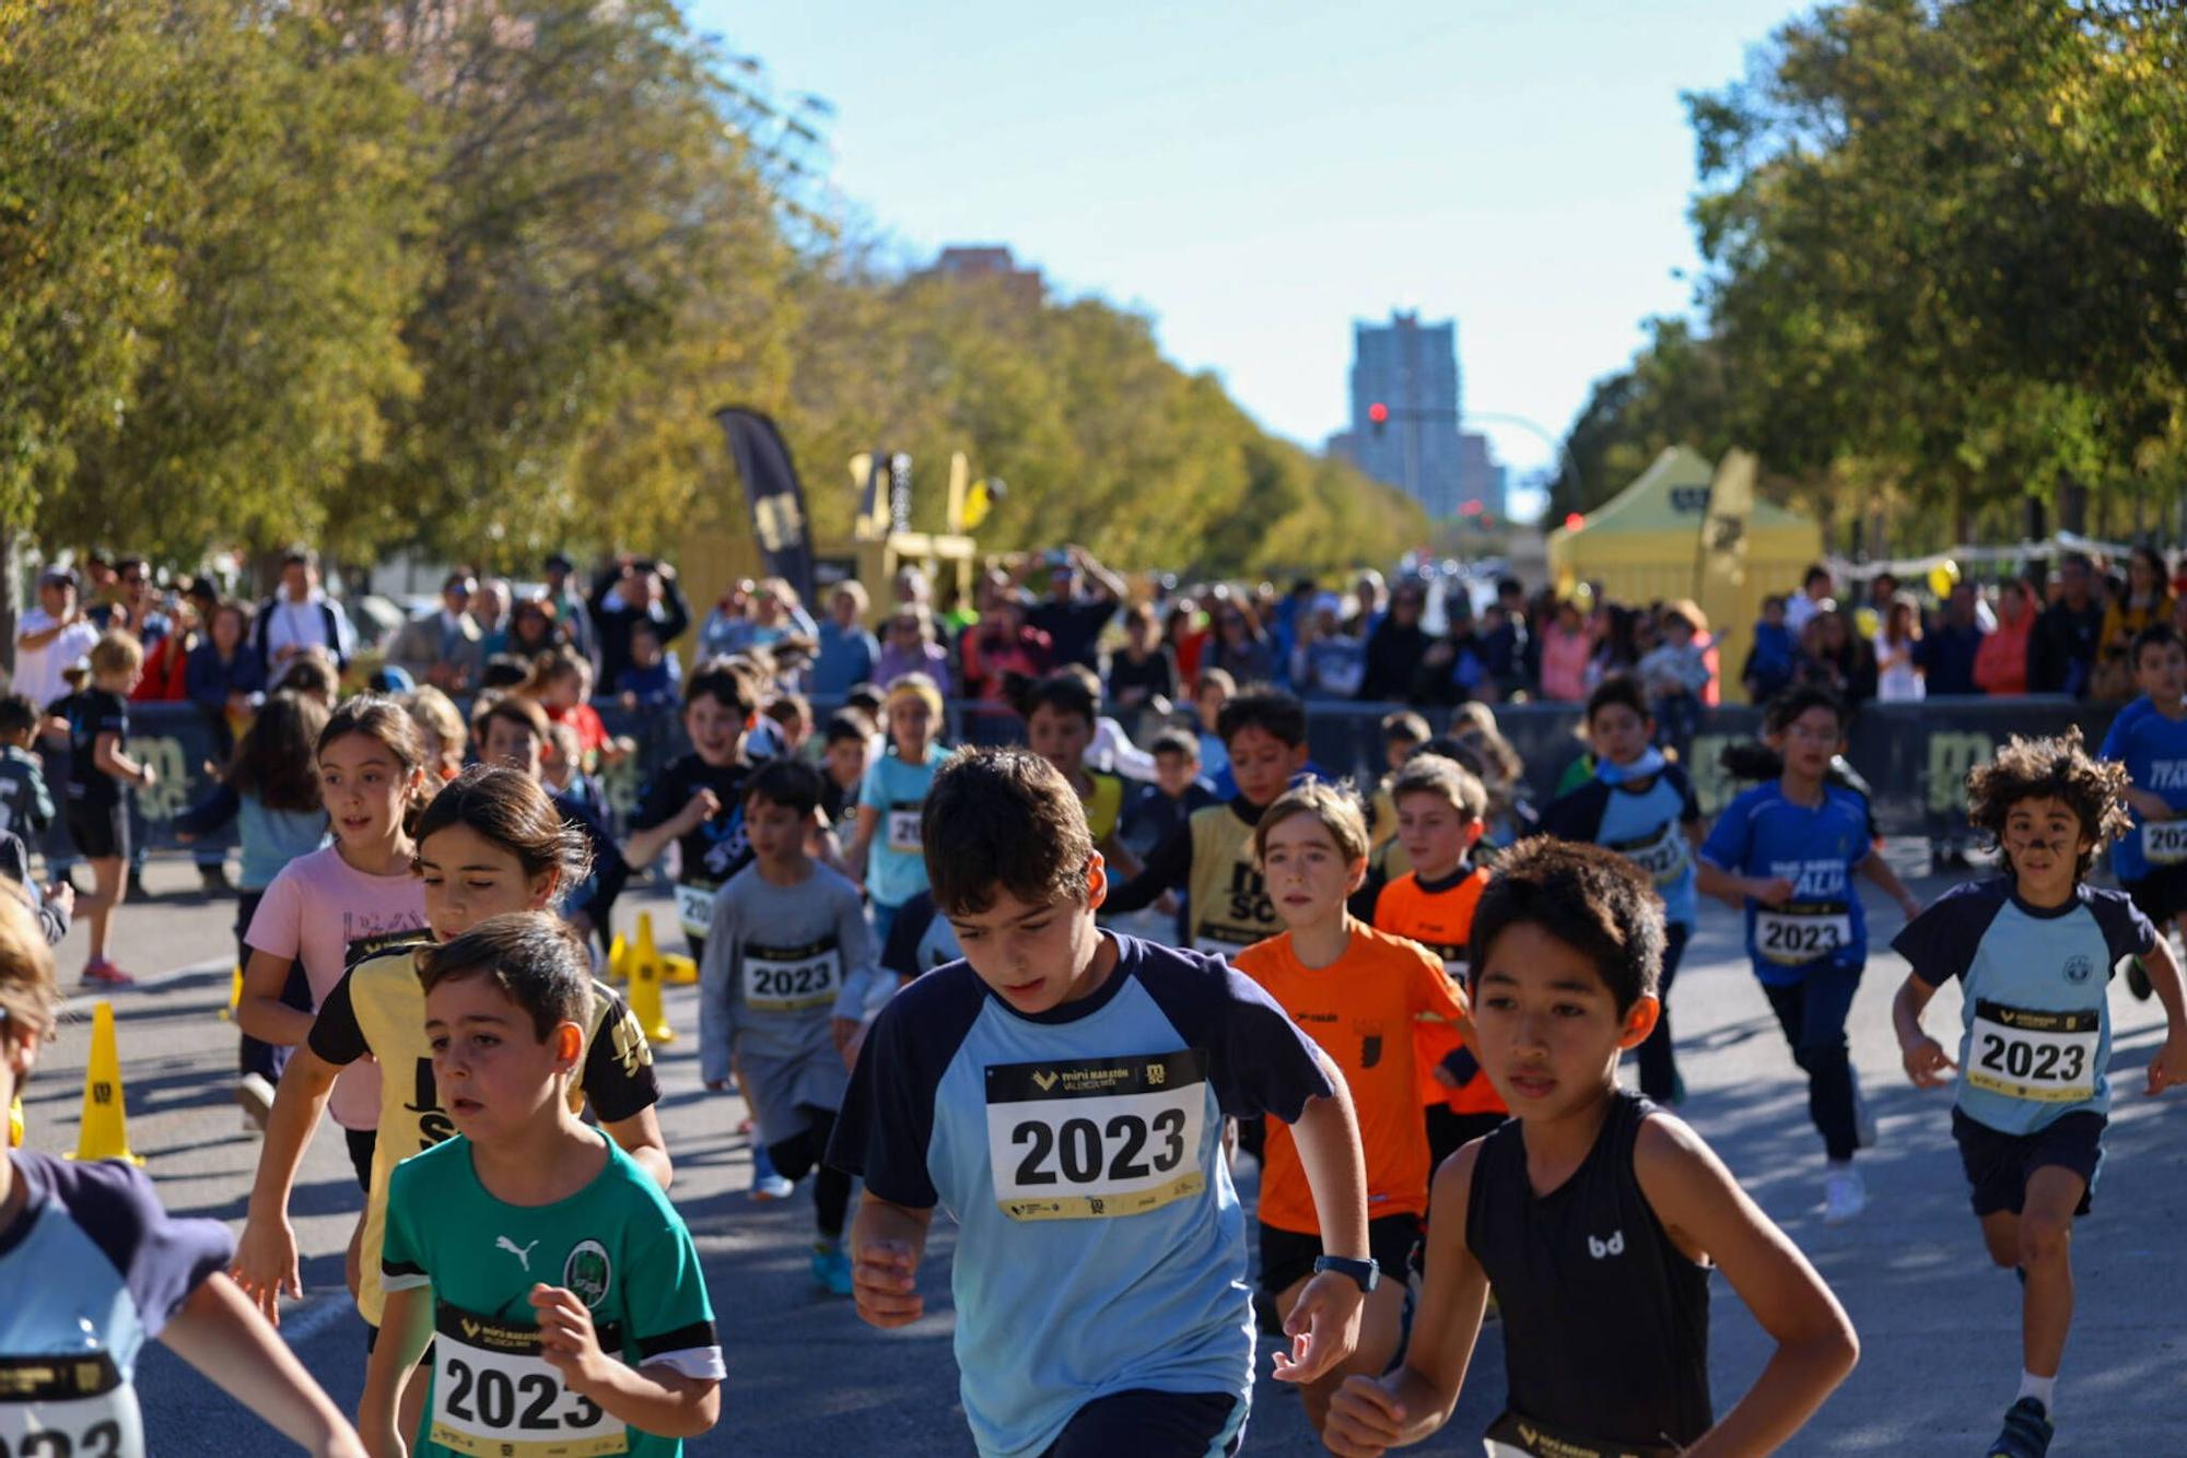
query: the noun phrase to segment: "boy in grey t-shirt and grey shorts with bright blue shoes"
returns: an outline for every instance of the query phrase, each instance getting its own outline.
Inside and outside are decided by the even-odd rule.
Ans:
[[[700,964],[700,1073],[730,1086],[735,1067],[768,1163],[785,1180],[814,1176],[814,1281],[851,1294],[842,1220],[851,1176],[820,1163],[851,1073],[842,1049],[877,992],[873,938],[857,887],[805,855],[818,822],[820,772],[776,759],[744,787],[752,863],[713,898]]]

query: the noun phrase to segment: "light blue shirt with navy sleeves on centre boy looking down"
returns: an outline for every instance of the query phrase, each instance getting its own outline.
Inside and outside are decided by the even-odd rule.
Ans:
[[[829,1163],[945,1207],[964,1416],[982,1454],[1039,1454],[1085,1403],[1253,1388],[1244,1211],[1223,1117],[1295,1121],[1332,1093],[1253,981],[1113,936],[1091,997],[1013,1012],[967,962],[881,1010]]]

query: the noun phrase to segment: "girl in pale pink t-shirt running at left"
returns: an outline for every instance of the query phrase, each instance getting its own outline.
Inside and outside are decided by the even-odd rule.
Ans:
[[[319,1008],[341,973],[376,951],[426,940],[424,890],[411,872],[418,848],[409,837],[413,804],[424,798],[424,748],[418,728],[394,699],[354,697],[313,743],[319,804],[335,844],[289,861],[267,885],[243,933],[243,999],[236,1025],[271,1047],[311,1036]],[[284,1001],[291,968],[304,968],[311,1001]],[[271,1091],[245,1089],[256,1124],[273,1113]],[[241,1100],[241,1095],[238,1095]],[[381,1124],[381,1069],[343,1069],[332,1093],[335,1124],[350,1145],[356,1187],[372,1187],[374,1130]]]

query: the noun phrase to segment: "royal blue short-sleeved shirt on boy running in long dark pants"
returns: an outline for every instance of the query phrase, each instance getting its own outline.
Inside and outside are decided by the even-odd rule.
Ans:
[[[1765,907],[1747,898],[1747,955],[1763,986],[1791,986],[1811,966],[1868,960],[1868,920],[1852,870],[1870,855],[1868,800],[1822,787],[1809,809],[1785,798],[1778,780],[1732,800],[1701,842],[1701,859],[1741,877],[1785,877],[1791,898]]]

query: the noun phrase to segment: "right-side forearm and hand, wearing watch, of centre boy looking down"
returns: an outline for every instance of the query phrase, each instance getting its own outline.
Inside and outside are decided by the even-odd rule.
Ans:
[[[1306,1167],[1306,1185],[1314,1191],[1314,1218],[1321,1224],[1321,1248],[1330,1255],[1369,1259],[1367,1250],[1367,1156],[1360,1150],[1360,1126],[1352,1113],[1352,1091],[1345,1073],[1330,1056],[1314,1049],[1321,1073],[1330,1080],[1328,1097],[1306,1100],[1290,1139]],[[1306,1283],[1284,1320],[1290,1351],[1275,1353],[1279,1381],[1308,1384],[1352,1355],[1360,1340],[1360,1309],[1367,1294],[1352,1277],[1325,1270]]]

